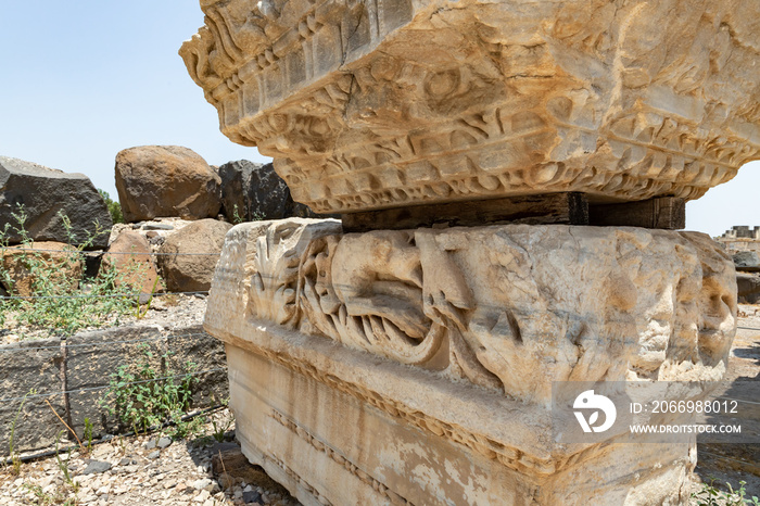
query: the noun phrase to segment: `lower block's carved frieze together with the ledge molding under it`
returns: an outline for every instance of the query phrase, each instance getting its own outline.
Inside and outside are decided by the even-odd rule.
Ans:
[[[388,270],[369,268],[369,257]],[[400,279],[417,282],[419,296],[389,284]],[[605,447],[552,443],[552,382],[720,379],[734,283],[727,255],[694,232],[555,225],[343,236],[335,220],[292,218],[229,231],[204,326],[400,425],[548,477]],[[377,320],[363,320],[362,307]],[[393,324],[413,309],[421,330]],[[410,333],[389,337],[389,321]]]

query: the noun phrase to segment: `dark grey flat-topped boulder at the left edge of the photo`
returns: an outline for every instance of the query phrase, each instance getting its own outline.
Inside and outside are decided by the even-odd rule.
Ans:
[[[8,239],[12,244],[22,241],[14,227],[12,213],[18,205],[26,213],[26,229],[35,241],[69,242],[63,213],[71,220],[75,242],[84,243],[101,230],[112,227],[109,208],[92,181],[84,174],[67,174],[18,159],[0,156],[0,227],[10,224]],[[87,248],[107,246],[109,235],[96,237]]]

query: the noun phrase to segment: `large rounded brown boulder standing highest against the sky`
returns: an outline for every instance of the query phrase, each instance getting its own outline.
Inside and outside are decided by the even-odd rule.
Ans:
[[[194,151],[179,146],[143,146],[116,155],[116,190],[129,223],[160,216],[216,217],[219,176]]]

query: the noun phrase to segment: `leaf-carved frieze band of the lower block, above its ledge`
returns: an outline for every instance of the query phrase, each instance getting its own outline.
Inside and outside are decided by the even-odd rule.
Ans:
[[[707,236],[503,225],[230,230],[206,319],[273,322],[540,404],[552,381],[718,380],[733,265]]]

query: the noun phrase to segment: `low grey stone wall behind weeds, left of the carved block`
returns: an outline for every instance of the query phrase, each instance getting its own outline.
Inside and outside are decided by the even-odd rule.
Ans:
[[[23,438],[26,440],[36,441],[37,438],[41,438],[39,434],[46,430],[46,423],[39,422],[40,419],[38,417],[42,413],[39,409],[45,409],[47,413],[46,403],[48,400],[52,401],[53,399],[59,399],[60,401],[56,403],[63,407],[56,407],[55,409],[52,406],[47,407],[53,409],[53,413],[56,413],[56,415],[60,413],[59,419],[61,419],[61,416],[64,416],[64,413],[68,415],[72,409],[75,409],[73,407],[75,405],[78,406],[76,410],[79,418],[89,414],[90,419],[93,417],[94,419],[100,419],[106,412],[113,415],[110,410],[111,408],[107,407],[113,400],[106,401],[109,392],[114,391],[113,389],[124,392],[125,389],[134,385],[161,384],[165,382],[170,384],[179,381],[181,384],[187,384],[187,387],[182,388],[191,389],[194,400],[193,404],[200,403],[201,407],[204,407],[204,405],[213,406],[193,414],[186,413],[182,420],[219,409],[223,407],[219,404],[219,400],[228,395],[224,379],[227,371],[224,347],[219,341],[207,332],[199,331],[197,326],[198,324],[193,324],[186,327],[187,331],[180,329],[161,330],[152,326],[126,329],[112,328],[107,329],[115,332],[115,336],[111,337],[111,339],[109,339],[107,333],[96,334],[94,337],[81,333],[78,334],[78,340],[73,343],[69,343],[72,340],[69,337],[62,339],[56,345],[34,345],[34,343],[26,345],[27,343],[18,342],[0,346],[0,359],[3,360],[1,372],[15,383],[5,390],[7,396],[0,399],[0,412],[4,412],[3,417],[5,420],[14,420],[13,427],[16,438],[22,438],[22,434],[25,434]],[[126,336],[122,332],[126,333]],[[142,336],[135,336],[136,332]],[[93,339],[93,341],[80,342],[79,340],[83,339]],[[177,340],[181,343],[181,347],[168,344],[170,341]],[[150,343],[167,344],[165,347],[163,347],[163,344],[160,345],[157,353],[154,353],[156,352],[154,346],[147,347],[144,353],[136,353],[139,350],[137,346],[149,345]],[[178,351],[178,356],[175,355],[174,350]],[[60,351],[60,353],[29,355],[35,356],[35,360],[37,360],[31,363],[27,362],[26,356],[22,353],[37,354],[38,352],[50,351]],[[110,358],[104,358],[105,355],[110,355]],[[14,356],[17,357],[13,358]],[[186,359],[187,362],[185,362]],[[201,367],[197,370],[194,366],[187,364],[188,362],[200,362]],[[155,370],[151,375],[154,374],[155,377],[140,377],[141,372],[139,371],[144,371],[144,367],[149,367],[148,364],[151,363],[154,365],[150,367]],[[186,367],[178,368],[177,366],[180,363],[185,363]],[[34,370],[30,370],[30,364],[33,364]],[[80,369],[83,365],[85,370]],[[127,367],[126,370],[132,370],[134,375],[123,376],[122,371],[125,366]],[[78,369],[78,371],[73,369]],[[224,375],[224,377],[219,375]],[[51,385],[52,389],[50,387],[46,388],[53,377],[55,381]],[[189,383],[186,383],[188,381]],[[69,384],[74,388],[66,388]],[[29,387],[34,388],[34,390],[27,390]],[[38,392],[37,389],[39,387],[47,391]],[[102,392],[102,394],[97,392]],[[92,393],[96,393],[94,397],[88,396],[88,394]],[[26,420],[22,426],[23,428],[16,427],[15,421],[22,413],[22,408],[24,410],[23,419]],[[50,415],[48,414],[47,416],[49,417]],[[81,419],[73,421],[69,418],[68,423],[71,427],[66,426],[66,428],[69,432],[84,430],[80,426]],[[169,420],[166,423],[172,425],[175,421]],[[162,427],[165,427],[166,423]],[[123,437],[130,435],[130,433],[124,433],[123,429],[126,429],[126,427],[119,426],[118,433]],[[156,429],[152,428],[148,431]],[[8,427],[5,427],[5,431],[8,431]],[[50,451],[39,453],[40,451],[36,450],[36,452],[33,455],[27,454],[22,459],[26,461],[27,459],[33,460],[54,454],[54,452],[51,453]],[[4,456],[0,457],[0,461],[4,459]]]

